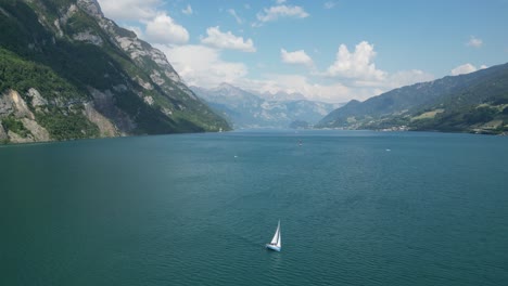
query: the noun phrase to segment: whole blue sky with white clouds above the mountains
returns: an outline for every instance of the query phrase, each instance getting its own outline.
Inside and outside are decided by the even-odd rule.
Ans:
[[[366,100],[508,62],[508,0],[98,0],[190,86]]]

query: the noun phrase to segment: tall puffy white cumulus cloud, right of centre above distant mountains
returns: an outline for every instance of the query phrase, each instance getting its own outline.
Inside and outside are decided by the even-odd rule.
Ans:
[[[336,53],[336,60],[328,67],[326,75],[382,81],[386,73],[376,68],[376,64],[371,62],[374,56],[373,46],[367,41],[358,43],[354,53],[351,53],[345,44],[341,44]]]

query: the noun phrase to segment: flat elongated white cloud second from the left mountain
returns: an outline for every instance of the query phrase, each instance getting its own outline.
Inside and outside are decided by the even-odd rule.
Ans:
[[[206,29],[208,35],[202,38],[201,42],[218,49],[239,50],[244,52],[255,52],[254,42],[252,39],[243,40],[243,37],[237,37],[231,31],[221,32],[220,28],[209,27]]]

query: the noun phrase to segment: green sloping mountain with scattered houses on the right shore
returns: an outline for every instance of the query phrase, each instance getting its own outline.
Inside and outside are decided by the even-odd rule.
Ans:
[[[403,87],[365,102],[351,101],[319,128],[508,131],[508,64]]]

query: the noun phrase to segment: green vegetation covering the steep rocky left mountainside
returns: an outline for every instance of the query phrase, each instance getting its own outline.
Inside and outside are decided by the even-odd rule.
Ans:
[[[131,37],[132,31],[112,24],[102,29],[97,20],[78,10],[68,16],[75,0],[0,0],[0,94],[15,90],[52,139],[68,140],[99,136],[98,127],[84,115],[84,103],[94,102],[97,109],[125,133],[155,134],[229,130],[199,100],[187,94],[179,83],[167,78],[150,56],[132,61],[114,38]],[[66,14],[65,21],[62,21]],[[56,26],[54,23],[59,22]],[[113,32],[112,32],[113,30]],[[92,35],[96,44],[74,40],[79,32]],[[141,42],[150,52],[151,46]],[[165,83],[150,77],[157,72]],[[138,80],[150,83],[144,89]],[[29,89],[36,89],[48,105],[35,108]],[[100,91],[99,98],[91,90]],[[149,105],[143,98],[151,96]],[[165,112],[163,112],[165,110]],[[170,115],[166,115],[170,110]],[[23,125],[13,115],[0,114],[9,130],[21,135]],[[129,121],[131,123],[123,123]],[[135,127],[132,129],[132,127]],[[5,127],[7,129],[7,127]]]

